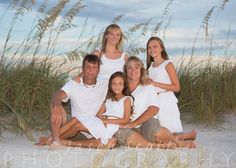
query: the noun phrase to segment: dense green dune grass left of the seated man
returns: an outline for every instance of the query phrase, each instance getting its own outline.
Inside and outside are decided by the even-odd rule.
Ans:
[[[49,128],[50,98],[65,77],[54,75],[50,65],[31,61],[29,64],[1,66],[0,113],[9,118],[7,125],[30,133],[30,129]]]

